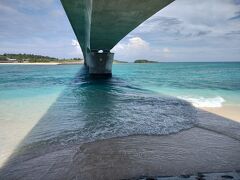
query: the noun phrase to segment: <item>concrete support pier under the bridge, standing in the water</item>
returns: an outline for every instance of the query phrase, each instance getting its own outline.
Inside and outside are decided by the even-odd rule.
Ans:
[[[111,77],[114,53],[90,52],[87,54],[89,74],[95,77]]]

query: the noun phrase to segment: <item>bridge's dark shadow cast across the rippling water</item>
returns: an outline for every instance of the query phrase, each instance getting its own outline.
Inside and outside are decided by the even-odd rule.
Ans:
[[[138,134],[177,133],[199,125],[197,114],[197,110],[183,100],[152,95],[152,92],[129,85],[114,76],[110,79],[93,79],[85,69],[81,69],[18,145],[1,168],[0,177],[2,172],[3,177],[9,179],[24,179],[22,175],[37,172],[38,169],[29,171],[31,166],[21,166],[21,163],[76,144]],[[226,127],[231,123],[231,126],[235,126],[234,122],[225,121]],[[204,123],[201,123],[201,127],[215,128]],[[71,161],[72,156],[67,157]],[[59,161],[59,156],[55,158],[44,165],[39,164],[39,173]]]

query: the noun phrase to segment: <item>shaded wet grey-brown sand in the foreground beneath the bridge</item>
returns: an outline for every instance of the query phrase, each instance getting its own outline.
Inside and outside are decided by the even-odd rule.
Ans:
[[[127,179],[240,170],[240,123],[206,111],[195,127],[166,136],[133,135],[32,147],[16,153],[0,179]]]

